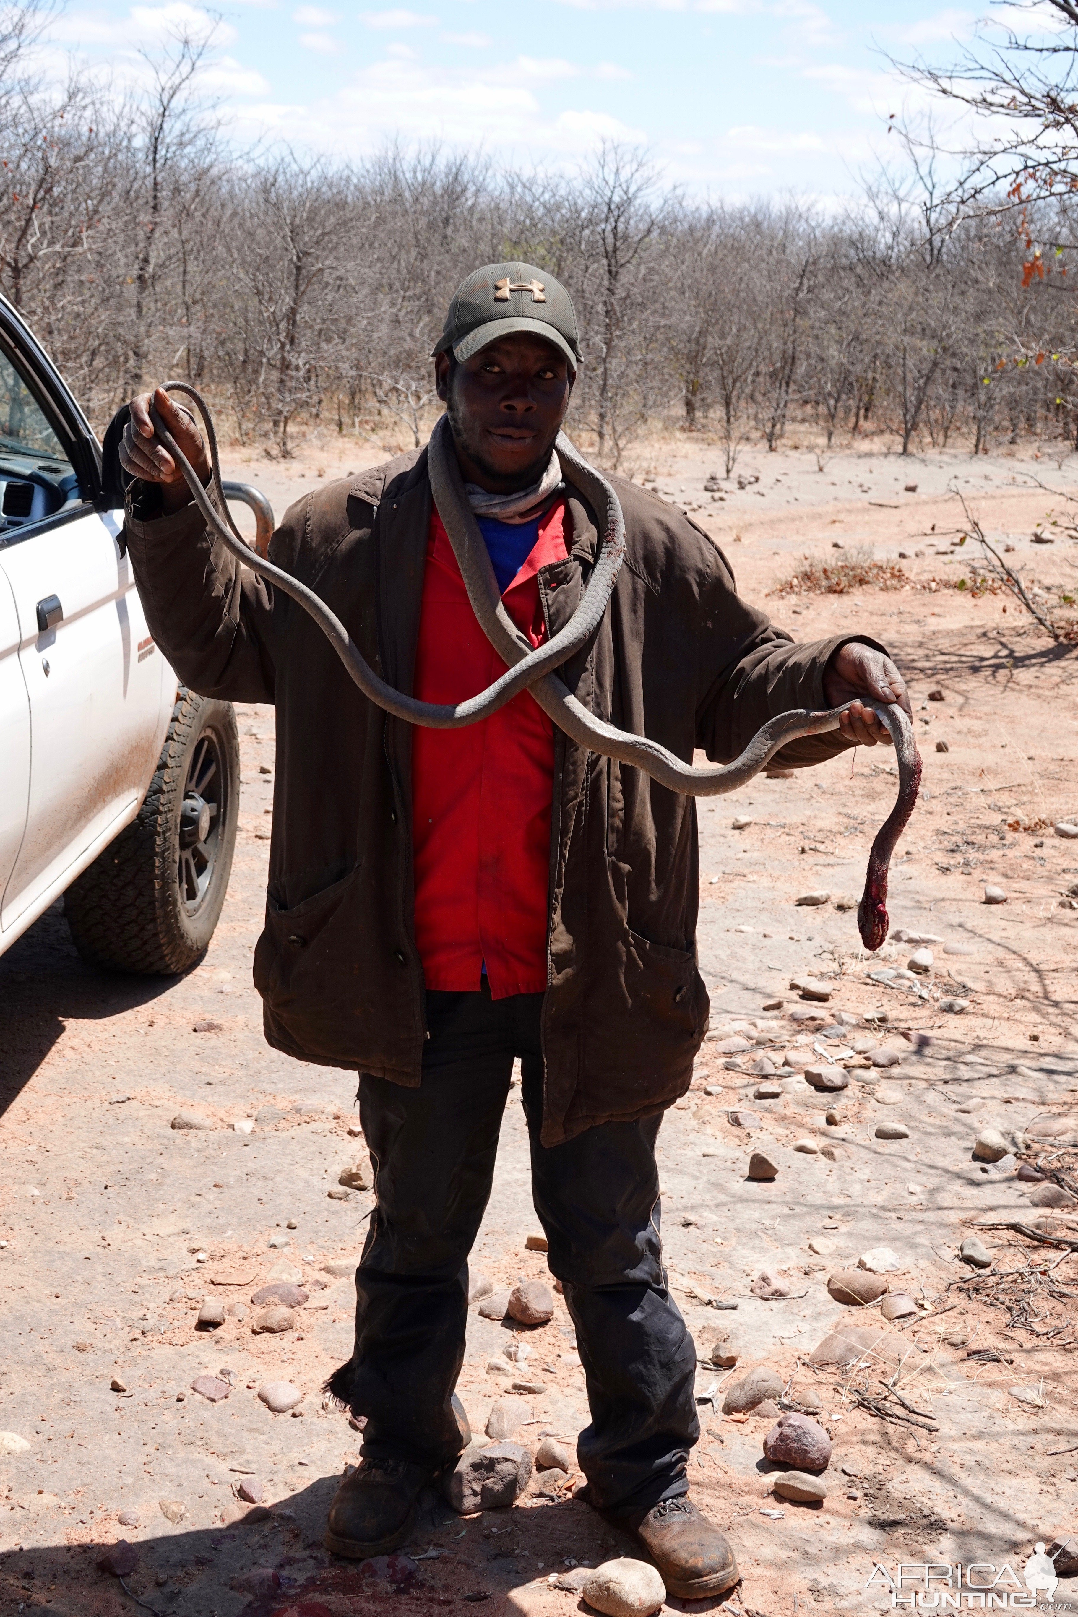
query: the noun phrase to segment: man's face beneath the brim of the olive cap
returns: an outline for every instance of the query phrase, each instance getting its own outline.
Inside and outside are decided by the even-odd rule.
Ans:
[[[449,356],[435,356],[465,482],[491,493],[527,488],[541,477],[569,407],[564,354],[540,336],[503,336],[462,361],[449,383]]]

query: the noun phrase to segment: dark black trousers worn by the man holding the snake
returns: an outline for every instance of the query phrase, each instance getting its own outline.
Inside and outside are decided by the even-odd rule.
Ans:
[[[451,1397],[464,1360],[467,1256],[490,1197],[520,1058],[532,1195],[577,1328],[592,1408],[577,1457],[593,1504],[650,1509],[688,1489],[700,1436],[695,1349],[666,1289],[659,1117],[540,1145],[541,994],[428,993],[420,1088],[362,1075],[377,1206],[356,1274],[356,1349],[333,1381],[367,1416],[364,1454],[440,1465],[459,1452]]]

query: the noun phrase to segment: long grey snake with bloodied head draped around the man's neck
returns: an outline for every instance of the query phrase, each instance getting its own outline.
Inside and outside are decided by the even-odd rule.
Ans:
[[[819,711],[792,708],[789,713],[779,713],[756,731],[737,758],[732,758],[729,763],[701,766],[685,763],[646,736],[635,736],[617,729],[617,726],[598,718],[577,700],[556,669],[587,645],[598,631],[614,592],[625,556],[625,522],[617,493],[603,474],[569,441],[566,433],[559,432],[554,440],[554,453],[561,464],[562,479],[577,488],[596,513],[600,540],[595,564],[572,618],[550,640],[545,640],[540,647],[533,647],[512,623],[501,602],[501,592],[483,535],[464,492],[464,480],[456,454],[453,453],[451,427],[446,416],[441,416],[435,424],[427,448],[432,495],[461,568],[461,577],[464,579],[472,610],[495,652],[506,663],[506,673],[495,679],[486,690],[469,697],[465,702],[433,703],[406,695],[402,690],[396,690],[386,684],[375,673],[341,619],[326,606],[320,595],[305,584],[301,584],[291,572],[278,568],[268,556],[254,551],[244,540],[233,521],[221,487],[217,432],[208,404],[189,382],[165,382],[163,390],[168,395],[181,395],[191,399],[205,427],[210,453],[210,488],[217,498],[217,506],[158,411],[150,404],[150,420],[154,422],[157,438],[179,467],[207,527],[244,566],[272,582],[314,618],[356,686],[370,702],[393,718],[404,720],[409,724],[425,724],[432,729],[457,729],[464,724],[475,724],[490,718],[491,713],[496,713],[522,690],[527,690],[548,718],[571,741],[588,752],[643,770],[659,786],[666,786],[669,791],[680,792],[682,796],[721,797],[752,781],[789,742],[839,729],[842,715],[849,713],[853,707],[852,702],[845,702],[842,707]],[[857,910],[861,941],[868,951],[874,952],[887,938],[887,875],[891,857],[916,804],[921,783],[921,755],[910,718],[897,702],[865,702],[863,707],[871,708],[886,724],[895,745],[895,760],[899,765],[895,805],[873,841],[865,891]]]

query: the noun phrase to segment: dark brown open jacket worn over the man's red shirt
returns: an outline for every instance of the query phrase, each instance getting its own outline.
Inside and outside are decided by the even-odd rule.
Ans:
[[[601,627],[561,669],[585,707],[680,758],[701,747],[713,760],[742,752],[774,713],[826,707],[824,665],[855,637],[794,645],[740,600],[695,522],[634,483],[614,485],[625,563]],[[572,551],[538,576],[550,634],[572,614],[595,558],[593,513],[572,490],[569,508]],[[406,692],[430,509],[420,451],[299,500],[270,545]],[[207,697],[276,705],[254,959],[267,1040],[301,1061],[419,1085],[427,1030],[412,930],[411,728],[360,695],[307,614],[215,543],[194,506],[157,521],[129,514],[126,530],[150,631],[179,678]],[[821,736],[782,758],[818,763],[844,745]],[[693,799],[558,733],[546,1145],[669,1106],[688,1087],[710,1009],[697,907]]]

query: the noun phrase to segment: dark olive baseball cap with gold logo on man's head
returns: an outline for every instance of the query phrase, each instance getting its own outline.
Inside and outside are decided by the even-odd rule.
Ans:
[[[488,264],[472,270],[449,304],[433,353],[444,354],[451,348],[457,359],[470,359],[512,331],[528,331],[553,343],[572,370],[580,364],[572,298],[561,281],[533,264]]]

